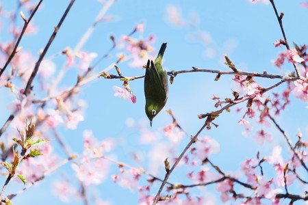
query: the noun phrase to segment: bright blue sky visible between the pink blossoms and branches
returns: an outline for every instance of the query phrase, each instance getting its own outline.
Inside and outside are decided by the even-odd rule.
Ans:
[[[301,8],[300,2],[277,1],[276,3],[279,12],[285,13],[283,25],[290,44],[292,42],[296,42],[296,44],[307,43],[308,10]],[[31,51],[37,57],[38,51],[44,48],[53,27],[61,18],[68,3],[69,1],[43,1],[42,7],[33,19],[38,27],[38,32],[35,35],[23,38],[21,41],[23,49]],[[5,10],[13,11],[16,8],[16,2],[11,0],[1,0],[0,5],[3,5]],[[181,11],[183,20],[185,20],[184,25],[177,26],[170,23],[168,10],[172,7]],[[102,5],[98,1],[76,1],[51,45],[47,57],[59,53],[66,47],[75,48],[86,29],[92,25],[101,8]],[[230,70],[222,61],[224,54],[230,57],[238,69],[248,72],[263,72],[266,70],[271,74],[283,74],[294,69],[291,64],[287,64],[281,72],[272,64],[272,60],[276,59],[278,53],[283,49],[275,48],[273,45],[276,40],[282,38],[282,35],[270,4],[252,4],[246,0],[190,1],[189,3],[181,0],[119,0],[113,3],[105,16],[112,16],[114,20],[99,23],[82,48],[83,51],[95,52],[100,57],[112,46],[111,35],[119,40],[124,34],[130,33],[138,23],[143,22],[145,25],[143,38],[154,35],[154,46],[157,51],[162,42],[168,42],[164,55],[164,68],[169,71],[188,70],[192,66],[214,70]],[[210,42],[198,38],[201,33],[210,38]],[[139,33],[135,33],[133,37],[139,38],[139,35]],[[10,37],[0,32],[1,41],[7,38]],[[208,54],[213,53],[213,51],[215,55],[210,57]],[[116,59],[117,53],[120,53],[120,49],[112,51],[110,57],[101,61],[94,72],[98,73],[109,66]],[[59,72],[63,66],[64,57],[55,58],[54,62],[57,65],[57,72]],[[127,62],[118,64],[118,66],[125,76],[144,74],[144,70],[130,68]],[[110,71],[110,73],[116,74],[115,70]],[[73,85],[76,74],[76,70],[70,70],[60,85],[63,87]],[[164,109],[172,109],[179,124],[190,135],[194,135],[204,123],[204,120],[197,118],[198,114],[216,110],[214,101],[211,100],[213,94],[222,98],[232,98],[232,77],[222,76],[220,81],[214,81],[215,76],[215,74],[203,72],[179,74],[175,77],[174,83],[169,85],[169,98]],[[270,79],[256,78],[255,80],[264,87],[277,82]],[[162,111],[153,120],[153,127],[149,127],[149,122],[144,113],[143,79],[129,83],[131,90],[137,97],[136,104],[114,97],[112,86],[122,87],[122,83],[117,80],[99,78],[82,88],[79,98],[85,100],[87,104],[84,113],[85,120],[79,124],[76,130],[60,129],[60,134],[73,152],[82,152],[82,132],[90,129],[95,137],[100,140],[116,139],[117,148],[114,152],[116,158],[119,161],[138,166],[132,160],[133,153],[138,153],[144,159],[147,159],[149,150],[152,148],[151,145],[140,143],[138,124],[144,124],[150,131],[158,133],[157,135],[164,138],[162,128],[166,124],[170,124],[172,119],[168,113]],[[273,92],[281,92],[285,86],[283,84],[275,88]],[[0,91],[0,124],[3,124],[10,115],[6,108],[13,98],[10,99],[7,96],[7,92]],[[291,96],[290,100],[291,105],[279,115],[278,122],[291,137],[294,137],[294,140],[298,130],[303,131],[307,137],[307,102],[302,102],[294,96]],[[245,106],[246,104],[240,105],[240,107]],[[234,109],[231,109],[231,113],[222,113],[215,121],[216,124],[219,124],[219,127],[213,127],[210,131],[203,131],[201,134],[202,136],[209,135],[220,143],[220,152],[215,154],[212,159],[226,172],[238,170],[240,163],[244,159],[255,156],[257,150],[262,150],[262,153],[266,155],[271,153],[272,147],[277,144],[287,149],[283,137],[273,127],[268,128],[268,131],[273,135],[273,141],[264,146],[257,145],[252,137],[254,133],[251,137],[243,137],[241,134],[243,128],[238,125],[238,121],[243,114],[244,109],[242,113],[235,113]],[[133,122],[135,125],[129,128],[127,122]],[[257,128],[254,131],[257,131]],[[51,141],[53,140],[53,136],[51,136]],[[175,147],[176,152],[180,153],[187,143],[188,139],[181,141],[181,144]],[[57,146],[55,146],[55,152],[64,154],[61,148]],[[146,167],[148,167],[148,164],[144,163],[144,169]],[[116,165],[114,165],[110,173],[116,172],[116,170]],[[68,178],[71,177],[69,173],[73,173],[70,165],[62,167],[37,186],[16,197],[13,202],[15,204],[62,204],[53,194],[52,185],[54,180],[61,180],[63,175]],[[170,181],[181,182],[181,178],[183,178],[181,174],[183,173],[181,171],[175,172],[170,177]],[[164,170],[159,172],[158,176],[163,177]],[[22,184],[18,184],[16,187],[8,187],[6,193],[21,188]],[[214,190],[214,188],[214,186],[209,187],[207,191]],[[128,189],[122,189],[118,184],[114,184],[110,178],[96,187],[94,192],[104,200],[112,202],[112,204],[137,204],[138,200],[136,191],[131,192]],[[219,201],[219,195],[214,193],[211,197]],[[78,203],[73,202],[73,204]]]

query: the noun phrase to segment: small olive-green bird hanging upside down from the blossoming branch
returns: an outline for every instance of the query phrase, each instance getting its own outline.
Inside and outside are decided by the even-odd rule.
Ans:
[[[145,111],[152,126],[153,118],[163,109],[168,99],[168,75],[162,68],[167,43],[163,43],[153,62],[148,60],[144,76]]]

